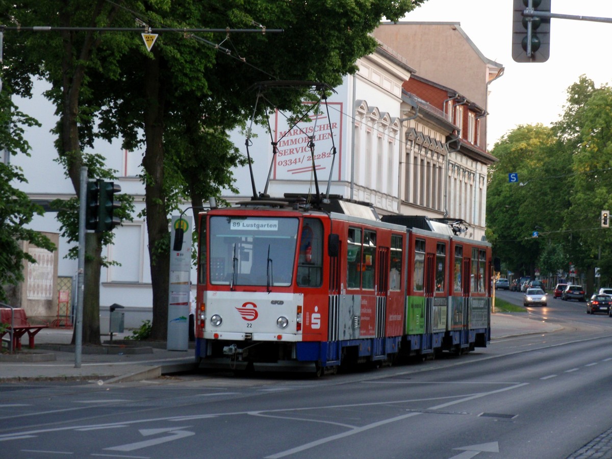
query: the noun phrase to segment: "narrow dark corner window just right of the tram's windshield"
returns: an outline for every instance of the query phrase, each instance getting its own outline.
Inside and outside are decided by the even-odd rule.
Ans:
[[[297,260],[297,285],[318,287],[323,271],[323,225],[316,218],[304,218]]]

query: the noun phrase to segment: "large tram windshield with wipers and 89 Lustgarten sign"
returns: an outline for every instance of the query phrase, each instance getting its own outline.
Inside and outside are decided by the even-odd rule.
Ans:
[[[291,285],[298,224],[289,217],[211,217],[211,283]]]

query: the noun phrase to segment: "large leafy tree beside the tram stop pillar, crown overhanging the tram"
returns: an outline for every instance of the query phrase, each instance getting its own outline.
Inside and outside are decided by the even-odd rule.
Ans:
[[[231,185],[228,166],[240,157],[224,135],[211,134],[226,132],[252,114],[255,94],[246,91],[249,86],[277,78],[318,80],[335,86],[343,75],[356,70],[358,58],[375,49],[369,33],[381,16],[401,17],[421,2],[260,0],[200,2],[188,7],[151,2],[151,8],[142,12],[147,23],[158,28],[194,24],[252,28],[266,18],[267,27],[285,31],[282,35],[208,35],[209,41],[223,42],[223,52],[219,52],[223,48],[203,45],[196,37],[185,40],[184,34],[162,34],[151,53],[139,45],[124,55],[124,72],[117,86],[107,92],[103,105],[108,107],[104,112],[108,125],[119,127],[127,140],[125,146],[136,147],[140,142],[145,146],[146,218],[154,284],[152,337],[164,338],[167,324],[168,213],[172,206],[167,201],[171,195],[168,173],[183,176],[183,181],[172,185],[186,187],[193,206],[218,192],[220,185]],[[280,97],[279,105],[295,108],[302,95],[303,91],[288,92]],[[261,116],[262,110],[259,107],[256,114]],[[136,135],[139,129],[144,131],[142,140]],[[176,168],[166,168],[168,158]]]

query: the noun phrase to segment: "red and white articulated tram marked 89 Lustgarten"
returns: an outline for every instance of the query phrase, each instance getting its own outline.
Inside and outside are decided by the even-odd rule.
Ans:
[[[321,373],[487,346],[490,244],[425,217],[324,202],[200,214],[202,366]]]

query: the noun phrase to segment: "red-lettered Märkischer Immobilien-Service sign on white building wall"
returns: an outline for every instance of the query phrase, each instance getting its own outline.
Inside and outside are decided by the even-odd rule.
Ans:
[[[336,159],[332,180],[340,180],[342,164],[343,103],[327,102],[329,119],[324,103],[319,107],[321,113],[311,113],[304,121],[289,130],[287,119],[278,110],[274,119],[274,141],[277,154],[274,158],[272,179],[309,180],[312,173],[311,143],[314,144],[314,162],[317,176],[327,180],[332,167],[333,146]],[[333,143],[332,143],[333,136]]]

